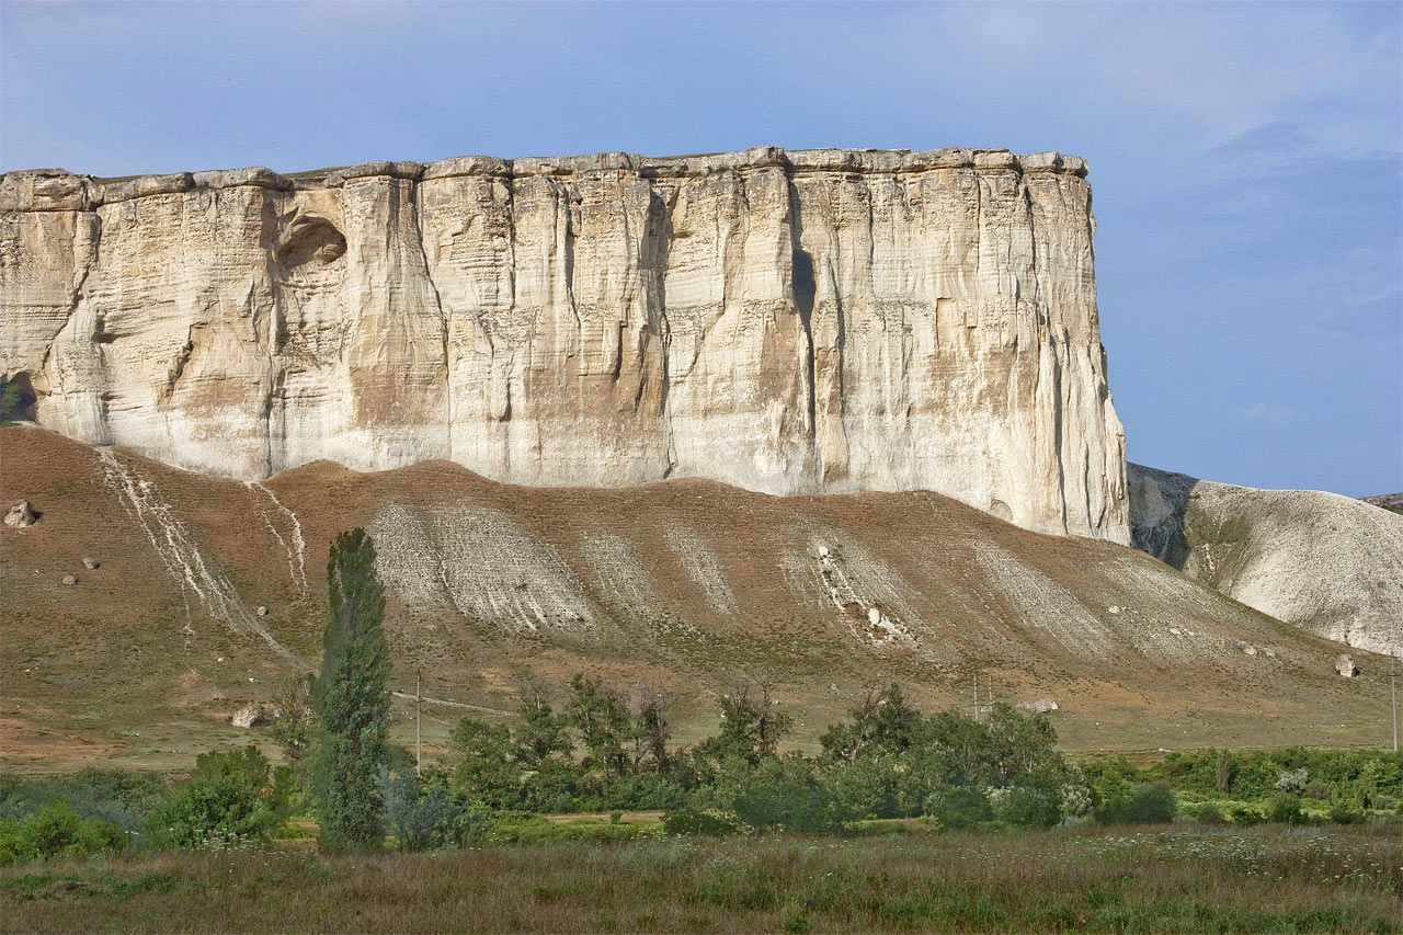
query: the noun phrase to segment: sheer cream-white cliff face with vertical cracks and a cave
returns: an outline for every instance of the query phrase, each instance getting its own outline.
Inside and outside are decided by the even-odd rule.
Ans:
[[[758,147],[0,184],[0,368],[257,480],[939,491],[1128,541],[1080,159]]]

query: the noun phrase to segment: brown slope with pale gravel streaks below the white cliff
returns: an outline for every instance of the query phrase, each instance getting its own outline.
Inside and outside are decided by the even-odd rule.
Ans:
[[[379,549],[393,687],[422,670],[457,705],[425,706],[435,744],[575,671],[664,688],[685,741],[746,672],[776,679],[800,744],[867,685],[937,709],[975,677],[1056,701],[1073,748],[1383,740],[1375,657],[1340,678],[1338,644],[1149,556],[936,494],[518,487],[448,462],[241,483],[38,428],[0,446],[0,494],[38,514],[0,526],[7,765],[188,765],[248,738],[229,717],[316,661],[328,543],[354,525]]]

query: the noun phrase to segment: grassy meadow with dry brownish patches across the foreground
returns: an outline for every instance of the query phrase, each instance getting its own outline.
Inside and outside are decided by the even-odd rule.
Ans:
[[[1396,828],[281,847],[0,872],[4,931],[1403,931]]]

